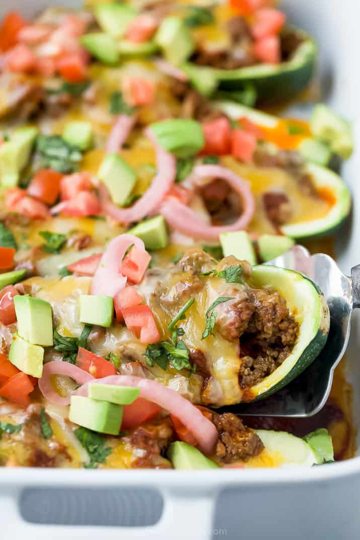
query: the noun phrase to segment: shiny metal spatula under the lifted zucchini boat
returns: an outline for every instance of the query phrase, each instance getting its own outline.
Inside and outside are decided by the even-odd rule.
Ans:
[[[331,257],[310,255],[302,246],[294,246],[267,264],[302,272],[321,288],[330,309],[328,341],[314,363],[279,392],[226,409],[239,416],[313,416],[329,397],[334,369],[348,345],[352,309],[360,307],[360,265],[352,268],[348,278]]]

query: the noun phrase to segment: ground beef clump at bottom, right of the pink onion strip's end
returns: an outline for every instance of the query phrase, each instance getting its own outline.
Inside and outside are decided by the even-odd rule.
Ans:
[[[219,433],[216,456],[224,463],[235,460],[249,461],[258,456],[264,446],[256,433],[244,426],[232,413],[213,413],[213,423]]]

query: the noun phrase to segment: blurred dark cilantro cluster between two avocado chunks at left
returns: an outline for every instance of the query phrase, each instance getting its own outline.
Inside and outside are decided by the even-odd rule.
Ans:
[[[83,159],[80,149],[66,143],[59,135],[39,135],[36,150],[42,159],[43,167],[49,167],[64,174],[75,171],[78,163]]]

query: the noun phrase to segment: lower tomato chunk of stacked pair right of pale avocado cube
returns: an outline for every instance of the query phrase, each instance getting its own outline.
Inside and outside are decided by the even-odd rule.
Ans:
[[[157,343],[160,334],[154,315],[148,306],[132,306],[122,310],[126,327],[141,343]]]

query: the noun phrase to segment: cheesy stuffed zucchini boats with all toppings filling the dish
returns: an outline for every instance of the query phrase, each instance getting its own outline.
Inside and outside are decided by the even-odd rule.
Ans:
[[[250,0],[5,17],[0,464],[333,460],[325,428],[344,413],[298,433],[217,410],[316,359],[321,291],[260,263],[350,211],[331,171],[351,154],[347,122],[248,106],[311,77],[312,40],[283,25]]]

